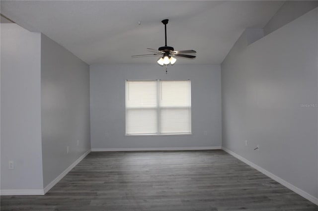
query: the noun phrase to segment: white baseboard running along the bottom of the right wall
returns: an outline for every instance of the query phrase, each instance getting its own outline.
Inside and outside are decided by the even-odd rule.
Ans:
[[[284,185],[285,187],[289,188],[290,190],[294,191],[295,193],[301,195],[302,197],[304,197],[305,199],[311,201],[312,203],[318,205],[318,198],[310,195],[309,193],[301,190],[300,188],[292,185],[291,183],[283,180],[282,178],[276,176],[275,174],[272,174],[271,172],[265,170],[264,168],[256,165],[255,163],[239,156],[238,154],[236,154],[235,152],[232,152],[231,150],[228,150],[224,147],[222,147],[222,150],[224,150],[225,152],[229,153],[230,155],[234,156],[235,158],[238,158],[239,160],[243,161],[244,163],[246,163],[247,165],[255,168],[256,170],[260,171],[261,173],[265,174],[266,176],[272,178],[273,180],[275,180],[276,182],[279,182],[280,184]]]

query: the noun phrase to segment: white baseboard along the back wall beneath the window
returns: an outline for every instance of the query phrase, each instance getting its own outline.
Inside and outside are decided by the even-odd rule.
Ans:
[[[155,147],[155,148],[92,148],[91,152],[181,151],[181,150],[221,150],[221,146],[216,146],[216,147]]]

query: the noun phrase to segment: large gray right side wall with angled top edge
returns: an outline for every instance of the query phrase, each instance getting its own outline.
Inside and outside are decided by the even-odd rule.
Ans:
[[[314,9],[248,47],[243,33],[221,65],[222,146],[316,199],[317,13]],[[260,151],[253,150],[256,145]]]

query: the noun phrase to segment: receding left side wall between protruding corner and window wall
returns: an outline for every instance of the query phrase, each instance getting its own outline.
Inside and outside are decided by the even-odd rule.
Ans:
[[[43,34],[41,107],[46,187],[90,149],[89,66]]]

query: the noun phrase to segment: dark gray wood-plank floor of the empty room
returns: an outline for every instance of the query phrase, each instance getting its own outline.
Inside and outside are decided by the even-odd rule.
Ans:
[[[221,150],[90,153],[45,196],[1,211],[318,211]]]

